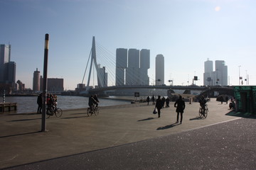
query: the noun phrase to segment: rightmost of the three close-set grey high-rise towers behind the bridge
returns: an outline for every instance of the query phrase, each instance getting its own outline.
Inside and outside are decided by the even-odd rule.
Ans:
[[[142,49],[139,60],[139,85],[149,85],[150,50]]]

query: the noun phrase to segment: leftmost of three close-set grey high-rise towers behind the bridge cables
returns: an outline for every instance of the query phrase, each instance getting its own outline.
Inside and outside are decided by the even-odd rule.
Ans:
[[[116,86],[125,84],[124,72],[127,69],[127,49],[117,48],[116,51]]]

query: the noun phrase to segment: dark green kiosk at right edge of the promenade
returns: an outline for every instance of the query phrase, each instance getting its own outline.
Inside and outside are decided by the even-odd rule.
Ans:
[[[236,111],[256,114],[256,86],[234,86]]]

